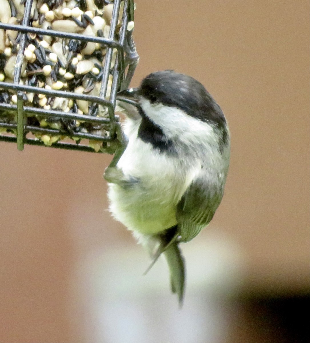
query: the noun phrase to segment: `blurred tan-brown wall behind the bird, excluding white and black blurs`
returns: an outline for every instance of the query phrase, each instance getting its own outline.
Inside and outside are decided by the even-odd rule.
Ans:
[[[134,36],[133,86],[154,70],[190,74],[228,118],[229,177],[209,230],[242,250],[245,285],[306,287],[308,1],[137,1]],[[74,293],[76,265],[93,251],[135,249],[103,210],[111,156],[11,143],[0,155],[0,341],[85,342],[92,318]]]

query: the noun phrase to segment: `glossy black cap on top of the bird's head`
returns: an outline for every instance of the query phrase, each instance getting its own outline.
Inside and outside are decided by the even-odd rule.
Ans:
[[[224,114],[211,94],[191,76],[173,70],[157,71],[142,80],[139,93],[151,103],[177,107],[218,128],[226,126]]]

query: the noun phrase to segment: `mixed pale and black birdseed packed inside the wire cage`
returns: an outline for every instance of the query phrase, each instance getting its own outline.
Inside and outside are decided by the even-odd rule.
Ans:
[[[21,24],[25,1],[1,0],[0,21],[3,23]],[[111,24],[113,1],[105,0],[33,0],[29,26],[55,31],[79,33],[87,36],[108,37]],[[123,1],[116,29],[118,37],[122,17]],[[127,29],[133,28],[133,22]],[[0,81],[13,82],[16,56],[20,48],[21,33],[14,30],[0,29]],[[99,96],[103,77],[103,66],[107,47],[99,43],[82,42],[74,39],[58,38],[28,33],[25,37],[24,61],[22,64],[21,84],[41,87],[47,90],[68,90],[76,94]],[[116,38],[117,38],[116,37]],[[106,98],[109,98],[112,85],[112,70],[115,65],[117,49],[112,51],[111,70],[108,80]],[[14,91],[2,90],[0,103],[16,104]],[[60,97],[49,97],[43,94],[26,93],[24,106],[32,106],[46,111],[60,110],[69,113],[91,116],[106,116],[103,106],[85,100],[72,100]],[[0,121],[16,123],[16,114],[0,109]],[[28,114],[28,125],[60,130],[64,134],[34,135],[44,144],[51,145],[63,138],[68,131],[76,143],[80,138],[74,133],[84,132],[109,134],[107,125],[76,121],[70,125],[59,118],[43,118],[40,115]],[[72,120],[71,120],[72,121]],[[69,122],[69,120],[68,120]],[[96,129],[95,129],[96,128]],[[4,129],[1,132],[16,133],[16,129]],[[95,151],[102,147],[102,141],[90,140],[89,146]]]

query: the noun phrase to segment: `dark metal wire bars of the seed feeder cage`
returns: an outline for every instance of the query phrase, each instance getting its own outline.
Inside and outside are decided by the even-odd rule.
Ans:
[[[59,0],[56,0],[59,1]],[[60,0],[61,1],[61,0]],[[52,29],[43,29],[31,26],[31,10],[33,0],[24,2],[24,15],[21,25],[8,24],[0,22],[0,31],[14,30],[18,32],[15,44],[19,43],[19,50],[16,52],[16,63],[14,68],[13,82],[0,82],[0,94],[3,90],[8,90],[10,93],[16,94],[16,104],[2,97],[0,102],[0,141],[16,142],[19,150],[24,149],[24,144],[44,145],[44,142],[33,137],[26,137],[27,134],[49,135],[50,137],[74,138],[75,142],[56,141],[50,146],[82,151],[95,151],[87,144],[82,144],[82,139],[88,139],[100,143],[100,149],[97,152],[114,153],[117,146],[116,130],[119,125],[119,117],[115,115],[116,94],[118,91],[128,88],[128,85],[133,76],[134,70],[138,64],[139,56],[136,52],[132,38],[132,29],[128,29],[128,23],[133,22],[134,4],[132,0],[115,0],[105,3],[113,3],[111,14],[110,29],[108,38],[102,36],[88,36],[79,33],[68,33],[55,31]],[[10,3],[11,5],[11,3]],[[122,11],[122,13],[121,13]],[[13,14],[13,13],[12,13]],[[119,19],[121,18],[121,19]],[[116,29],[120,21],[119,32]],[[78,94],[72,91],[63,91],[57,89],[49,89],[37,87],[29,84],[23,84],[21,81],[23,61],[25,59],[25,47],[27,35],[50,36],[62,39],[71,39],[76,42],[94,42],[100,44],[100,49],[106,49],[106,55],[100,77],[102,77],[99,95]],[[118,39],[117,39],[117,38]],[[113,49],[116,49],[116,59],[114,67],[111,68]],[[1,57],[1,55],[0,55]],[[59,58],[58,58],[59,61]],[[107,96],[107,88],[109,76],[111,75],[111,90]],[[92,114],[81,114],[81,111],[64,111],[58,109],[44,109],[35,106],[25,106],[25,95],[33,93],[44,95],[53,98],[65,98],[72,100],[84,100],[88,104],[98,105],[104,113],[104,116],[94,116]],[[0,98],[1,100],[1,98]],[[6,101],[5,101],[6,100]],[[77,107],[75,107],[77,108]],[[94,106],[93,106],[94,108]],[[14,114],[14,122],[6,120],[7,113]],[[33,116],[47,118],[51,121],[61,120],[63,123],[71,123],[71,127],[65,125],[61,128],[41,127],[34,125],[28,119]],[[12,116],[11,116],[12,117]],[[76,129],[76,122],[86,122],[95,128],[104,128],[104,130],[96,133],[79,132]],[[2,130],[1,130],[2,128]],[[1,133],[2,131],[2,133]],[[5,131],[5,133],[3,132]],[[85,130],[84,130],[85,131]],[[11,135],[8,135],[10,132]]]

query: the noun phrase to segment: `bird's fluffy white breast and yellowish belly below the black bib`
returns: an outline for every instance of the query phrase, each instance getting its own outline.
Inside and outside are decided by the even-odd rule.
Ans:
[[[110,211],[117,220],[142,234],[156,234],[177,223],[177,203],[191,182],[186,168],[178,168],[173,157],[140,138],[129,140],[117,167],[125,178],[136,180],[126,187],[109,184]]]

